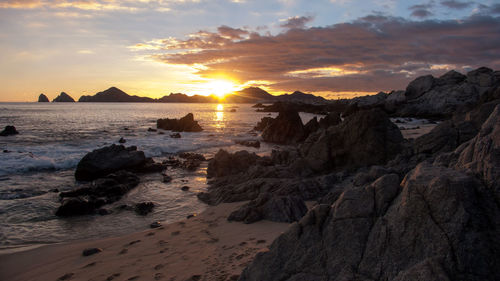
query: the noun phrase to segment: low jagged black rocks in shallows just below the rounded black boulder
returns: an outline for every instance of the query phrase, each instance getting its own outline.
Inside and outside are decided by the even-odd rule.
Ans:
[[[93,214],[98,208],[120,200],[139,184],[133,173],[119,171],[100,178],[85,187],[61,192],[61,206],[56,215],[61,217]]]

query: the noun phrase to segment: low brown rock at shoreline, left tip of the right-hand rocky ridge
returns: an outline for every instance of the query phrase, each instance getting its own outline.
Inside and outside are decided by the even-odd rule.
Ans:
[[[223,177],[244,172],[248,167],[257,162],[255,153],[249,153],[246,150],[238,151],[233,154],[220,149],[212,160],[208,162],[207,178]]]

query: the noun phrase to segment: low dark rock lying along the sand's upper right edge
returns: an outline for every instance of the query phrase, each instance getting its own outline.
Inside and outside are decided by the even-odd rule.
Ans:
[[[294,222],[300,220],[306,213],[307,207],[299,197],[272,196],[269,193],[263,193],[257,199],[232,212],[227,220],[244,223],[254,223],[263,219]]]

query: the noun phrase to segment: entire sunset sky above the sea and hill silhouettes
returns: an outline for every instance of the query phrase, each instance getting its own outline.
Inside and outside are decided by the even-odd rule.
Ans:
[[[111,86],[326,98],[500,69],[500,1],[0,0],[0,101]]]

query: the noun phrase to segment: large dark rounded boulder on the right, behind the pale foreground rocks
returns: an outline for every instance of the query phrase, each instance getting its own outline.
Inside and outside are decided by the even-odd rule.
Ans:
[[[363,110],[309,136],[300,148],[300,166],[321,172],[383,164],[401,151],[403,141],[382,110]]]

